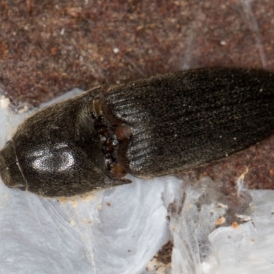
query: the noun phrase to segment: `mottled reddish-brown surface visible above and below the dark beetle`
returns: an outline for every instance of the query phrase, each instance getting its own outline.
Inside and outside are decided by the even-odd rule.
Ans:
[[[72,88],[198,66],[274,69],[274,3],[0,1],[0,84],[38,105]],[[199,169],[234,188],[273,188],[274,138]]]

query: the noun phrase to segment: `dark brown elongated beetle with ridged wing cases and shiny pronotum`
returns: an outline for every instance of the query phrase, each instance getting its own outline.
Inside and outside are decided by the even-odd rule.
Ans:
[[[3,182],[47,197],[188,171],[274,129],[273,73],[193,69],[93,88],[23,122],[0,151]]]

